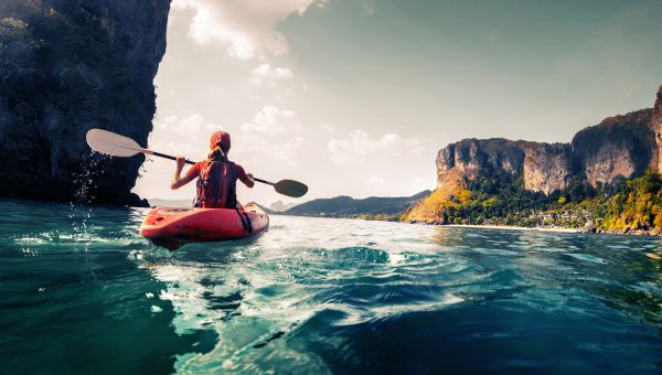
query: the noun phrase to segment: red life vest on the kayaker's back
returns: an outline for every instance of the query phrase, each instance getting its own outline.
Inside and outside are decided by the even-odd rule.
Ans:
[[[236,208],[237,175],[231,161],[207,161],[200,169],[195,207]]]

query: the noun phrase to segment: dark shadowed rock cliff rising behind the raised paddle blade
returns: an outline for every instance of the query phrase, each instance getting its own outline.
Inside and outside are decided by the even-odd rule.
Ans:
[[[0,196],[141,205],[142,157],[92,154],[90,128],[147,146],[170,0],[0,2]]]

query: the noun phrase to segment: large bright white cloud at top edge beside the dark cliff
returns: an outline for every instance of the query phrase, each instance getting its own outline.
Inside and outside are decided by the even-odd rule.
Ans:
[[[174,0],[173,9],[193,9],[189,38],[199,44],[218,42],[231,56],[246,60],[263,51],[288,52],[285,36],[276,30],[288,15],[303,14],[316,0]],[[317,1],[318,4],[323,2]]]

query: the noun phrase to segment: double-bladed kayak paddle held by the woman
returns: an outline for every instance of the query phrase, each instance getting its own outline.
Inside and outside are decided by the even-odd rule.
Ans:
[[[128,158],[138,153],[145,153],[159,158],[177,160],[175,157],[143,149],[135,140],[108,130],[90,129],[87,131],[85,139],[87,140],[87,144],[89,144],[93,150],[111,157]],[[195,164],[195,162],[186,159],[186,164]],[[269,182],[257,178],[253,178],[253,180],[271,185],[277,193],[287,196],[300,197],[308,192],[308,186],[306,186],[306,184],[293,180],[281,180],[278,182]]]

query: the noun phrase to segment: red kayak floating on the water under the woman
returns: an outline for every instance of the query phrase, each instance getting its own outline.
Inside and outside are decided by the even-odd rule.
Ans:
[[[212,243],[254,236],[269,227],[269,216],[256,204],[243,210],[154,207],[140,235],[170,250],[190,243]]]

